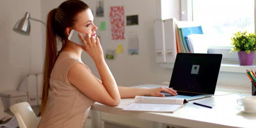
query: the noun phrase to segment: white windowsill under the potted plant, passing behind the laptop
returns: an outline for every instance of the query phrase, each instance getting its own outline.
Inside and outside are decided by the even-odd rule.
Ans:
[[[173,63],[159,63],[162,68],[172,69]],[[222,63],[220,66],[220,72],[231,72],[231,73],[245,73],[246,69],[256,69],[256,65],[241,66],[239,64],[228,64]]]

